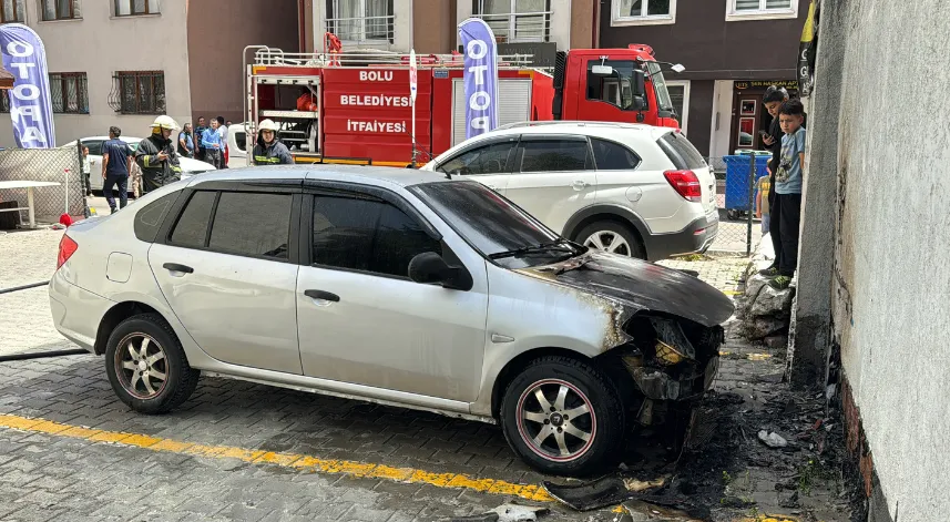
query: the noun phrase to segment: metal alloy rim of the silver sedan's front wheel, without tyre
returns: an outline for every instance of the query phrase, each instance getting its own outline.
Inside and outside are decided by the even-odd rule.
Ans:
[[[538,456],[570,462],[590,450],[597,419],[590,399],[570,382],[545,379],[518,400],[518,432]]]

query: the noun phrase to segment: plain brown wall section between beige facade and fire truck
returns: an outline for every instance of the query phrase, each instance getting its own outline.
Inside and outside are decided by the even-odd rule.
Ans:
[[[188,63],[195,121],[217,115],[244,121],[241,54],[246,45],[299,52],[298,7],[297,0],[190,2]]]

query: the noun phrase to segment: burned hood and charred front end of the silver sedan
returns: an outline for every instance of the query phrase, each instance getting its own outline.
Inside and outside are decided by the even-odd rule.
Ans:
[[[533,273],[600,301],[607,316],[597,359],[644,426],[662,423],[703,397],[719,367],[721,326],[732,300],[697,277],[591,250]]]

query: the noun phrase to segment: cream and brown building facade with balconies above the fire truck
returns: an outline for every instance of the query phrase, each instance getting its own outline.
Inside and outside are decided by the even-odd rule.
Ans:
[[[484,19],[499,53],[533,54],[535,64],[553,65],[554,53],[593,45],[593,0],[303,0],[305,48],[321,50],[326,33],[344,49],[417,53],[457,50],[457,25]]]

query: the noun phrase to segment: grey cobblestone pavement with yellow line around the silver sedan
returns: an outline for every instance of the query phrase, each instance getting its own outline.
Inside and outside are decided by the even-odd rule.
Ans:
[[[19,267],[4,272],[3,285],[48,278],[59,235],[0,237],[0,257],[12,255]],[[728,293],[740,288],[746,263],[664,262]],[[50,335],[45,288],[0,299],[8,299],[0,301],[4,349],[68,346]],[[11,318],[19,326],[8,326]],[[10,341],[11,332],[21,340]],[[726,350],[733,356],[718,389],[755,393],[750,372],[780,375],[779,361],[749,357],[753,347],[731,342]],[[544,521],[619,520],[550,502],[537,489],[543,479],[514,458],[494,426],[213,378],[178,410],[147,417],[115,399],[102,358],[0,362],[4,521],[428,521],[512,499],[552,509]],[[787,511],[774,489],[769,497],[775,480],[759,482],[748,494],[760,512]]]

